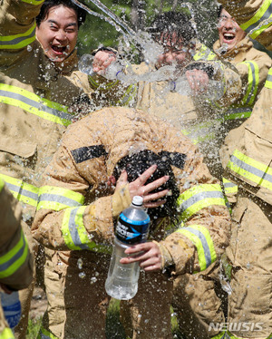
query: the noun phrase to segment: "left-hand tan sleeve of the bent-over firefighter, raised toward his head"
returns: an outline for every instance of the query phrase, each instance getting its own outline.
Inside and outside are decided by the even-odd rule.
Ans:
[[[94,152],[101,151],[91,136],[90,142]],[[131,204],[127,186],[97,198],[100,183],[106,182],[100,175],[104,159],[94,157],[90,165],[75,160],[84,157],[85,151],[81,148],[72,153],[63,141],[45,170],[32,228],[34,238],[45,247],[107,251],[113,238],[113,218]]]

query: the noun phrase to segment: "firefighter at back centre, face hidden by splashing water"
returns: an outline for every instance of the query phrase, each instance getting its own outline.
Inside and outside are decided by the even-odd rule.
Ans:
[[[189,86],[194,93],[199,93],[200,99],[197,100],[196,96],[192,97],[180,92],[165,92],[167,85],[165,81],[139,82],[136,90],[135,86],[133,89],[131,85],[126,94],[132,91],[134,96],[126,95],[125,98],[131,100],[130,104],[134,99],[136,107],[148,111],[151,115],[170,121],[187,134],[194,143],[198,143],[209,171],[221,179],[222,167],[219,159],[219,145],[223,138],[221,112],[231,102],[238,100],[241,91],[240,76],[237,71],[232,71],[225,64],[219,63],[215,53],[209,51],[203,44],[196,43],[196,31],[188,15],[173,12],[159,15],[151,24],[149,32],[152,38],[164,48],[163,53],[159,54],[154,69],[160,70],[163,65],[176,64],[177,72],[182,70],[181,73],[186,76]],[[112,51],[104,49],[98,51],[93,60],[93,70],[102,75],[104,69],[116,59],[114,55]],[[225,73],[219,72],[222,70],[221,67]],[[145,63],[141,63],[134,65],[133,70],[135,73],[142,74],[148,72],[149,68]],[[102,82],[102,77],[97,77],[96,80]],[[222,97],[219,96],[217,103],[213,102],[212,105],[212,101],[209,101],[205,95],[209,81],[223,82],[225,85],[225,93]],[[219,116],[218,111],[214,110],[215,103],[217,109],[219,106]],[[219,285],[218,267],[219,262],[209,266],[206,272],[201,272],[199,275],[180,275],[174,280],[175,292],[172,305],[177,314],[180,331],[187,336],[207,338],[219,332],[215,329],[209,331],[210,323],[225,321],[221,300],[215,292],[215,288]],[[125,322],[122,320],[122,324],[128,332],[130,326],[126,325],[128,321],[125,315],[129,311],[128,306],[124,304],[125,302],[121,303],[121,318],[126,319]]]

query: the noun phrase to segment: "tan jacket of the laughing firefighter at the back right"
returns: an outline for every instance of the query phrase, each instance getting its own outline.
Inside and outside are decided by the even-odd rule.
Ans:
[[[226,136],[228,131],[237,128],[251,115],[257,97],[267,80],[267,73],[272,60],[267,53],[254,48],[248,37],[245,37],[227,52],[222,50],[218,40],[213,45],[213,50],[237,68],[242,80],[240,97],[235,104],[224,111],[222,130],[224,130],[224,136]],[[235,202],[238,186],[225,178],[223,178],[223,184],[228,201]]]

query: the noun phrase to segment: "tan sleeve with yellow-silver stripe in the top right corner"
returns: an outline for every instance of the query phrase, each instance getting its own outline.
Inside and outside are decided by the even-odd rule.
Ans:
[[[252,39],[272,51],[272,23],[269,19],[272,0],[219,0],[219,3],[235,17]]]

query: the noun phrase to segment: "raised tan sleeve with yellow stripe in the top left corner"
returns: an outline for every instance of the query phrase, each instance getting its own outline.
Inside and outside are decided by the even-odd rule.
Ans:
[[[0,6],[0,65],[9,65],[27,53],[35,41],[35,16],[44,0],[3,0]],[[16,52],[16,53],[15,53]]]

